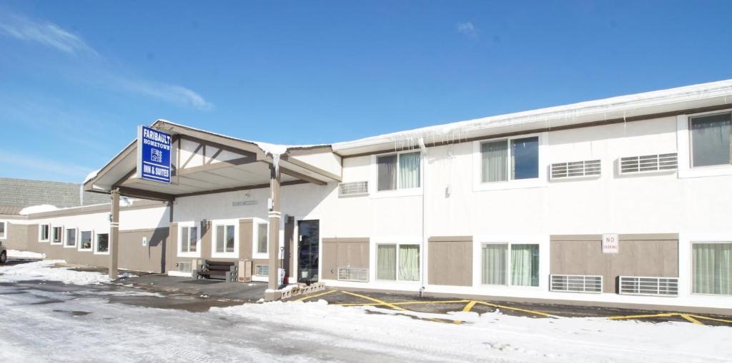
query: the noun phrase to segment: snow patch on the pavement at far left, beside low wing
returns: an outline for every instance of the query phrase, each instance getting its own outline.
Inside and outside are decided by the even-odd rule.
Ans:
[[[109,276],[99,272],[72,271],[67,267],[53,267],[63,260],[45,260],[0,267],[0,282],[27,280],[61,281],[73,285],[108,283]]]

